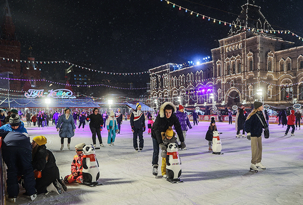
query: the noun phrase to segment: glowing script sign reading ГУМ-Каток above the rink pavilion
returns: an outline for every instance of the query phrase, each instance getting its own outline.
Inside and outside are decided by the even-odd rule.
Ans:
[[[57,89],[57,90],[48,90],[48,92],[44,92],[44,90],[35,90],[29,89],[26,93],[24,93],[26,98],[43,98],[47,96],[47,98],[76,98],[73,96],[73,92],[68,89]]]

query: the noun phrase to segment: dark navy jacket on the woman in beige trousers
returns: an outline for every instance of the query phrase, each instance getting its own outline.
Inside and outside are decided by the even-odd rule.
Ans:
[[[263,113],[261,111],[258,111],[244,123],[244,130],[247,133],[250,132],[251,137],[260,137],[263,132],[263,125],[257,115],[259,115],[261,119],[264,119]]]

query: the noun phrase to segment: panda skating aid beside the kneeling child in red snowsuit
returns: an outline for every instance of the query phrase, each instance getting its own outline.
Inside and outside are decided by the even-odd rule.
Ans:
[[[87,186],[102,185],[97,180],[99,179],[99,163],[96,158],[95,148],[92,144],[83,147],[83,183]]]

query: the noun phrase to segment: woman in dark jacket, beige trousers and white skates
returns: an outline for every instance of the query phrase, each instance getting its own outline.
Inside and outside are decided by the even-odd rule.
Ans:
[[[267,129],[268,125],[265,121],[262,112],[262,102],[254,102],[254,110],[248,115],[244,130],[247,132],[247,139],[251,140],[252,160],[250,170],[258,171],[258,167],[265,169],[266,167],[261,163],[262,160],[262,132],[263,128]]]

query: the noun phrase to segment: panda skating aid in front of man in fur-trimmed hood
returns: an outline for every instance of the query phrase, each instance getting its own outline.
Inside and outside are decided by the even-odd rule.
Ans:
[[[181,172],[181,160],[178,153],[178,144],[169,143],[167,145],[166,156],[166,180],[171,183],[183,182],[179,179]]]

